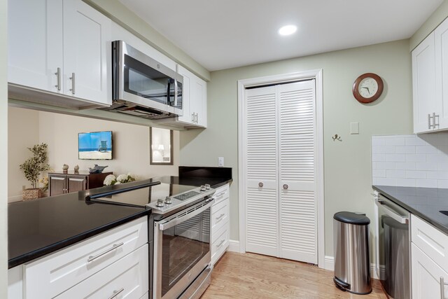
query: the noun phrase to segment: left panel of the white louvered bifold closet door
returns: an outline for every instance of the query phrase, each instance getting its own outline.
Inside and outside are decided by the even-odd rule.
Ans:
[[[246,251],[278,254],[276,88],[246,90]]]

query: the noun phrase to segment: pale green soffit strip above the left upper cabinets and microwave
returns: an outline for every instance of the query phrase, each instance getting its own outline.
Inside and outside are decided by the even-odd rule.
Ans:
[[[210,72],[197,63],[193,58],[188,56],[181,48],[177,47],[169,41],[165,36],[162,36],[153,27],[148,25],[144,20],[139,18],[135,13],[132,13],[129,8],[118,0],[83,0],[85,3],[93,6],[98,11],[104,13],[114,22],[125,27],[140,39],[146,41],[163,54],[170,57],[175,62],[182,64],[184,67],[200,76],[205,81],[210,80]],[[174,4],[170,4],[174,5]]]

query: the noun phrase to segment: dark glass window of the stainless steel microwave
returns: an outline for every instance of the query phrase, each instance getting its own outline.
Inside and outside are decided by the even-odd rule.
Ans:
[[[174,97],[173,79],[146,64],[125,55],[124,87],[140,97],[146,97],[162,104],[169,104]]]

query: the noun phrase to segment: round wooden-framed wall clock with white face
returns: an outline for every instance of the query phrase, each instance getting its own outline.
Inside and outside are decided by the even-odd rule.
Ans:
[[[363,74],[353,83],[353,97],[360,103],[371,103],[379,98],[383,88],[383,81],[377,74]]]

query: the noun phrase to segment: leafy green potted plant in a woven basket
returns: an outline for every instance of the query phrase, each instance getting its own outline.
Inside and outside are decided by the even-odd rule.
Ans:
[[[32,188],[23,190],[23,200],[43,197],[42,189],[38,188],[38,178],[41,172],[50,169],[50,165],[47,163],[47,144],[36,144],[28,149],[33,156],[25,160],[19,167],[25,174],[25,178],[31,183]]]

